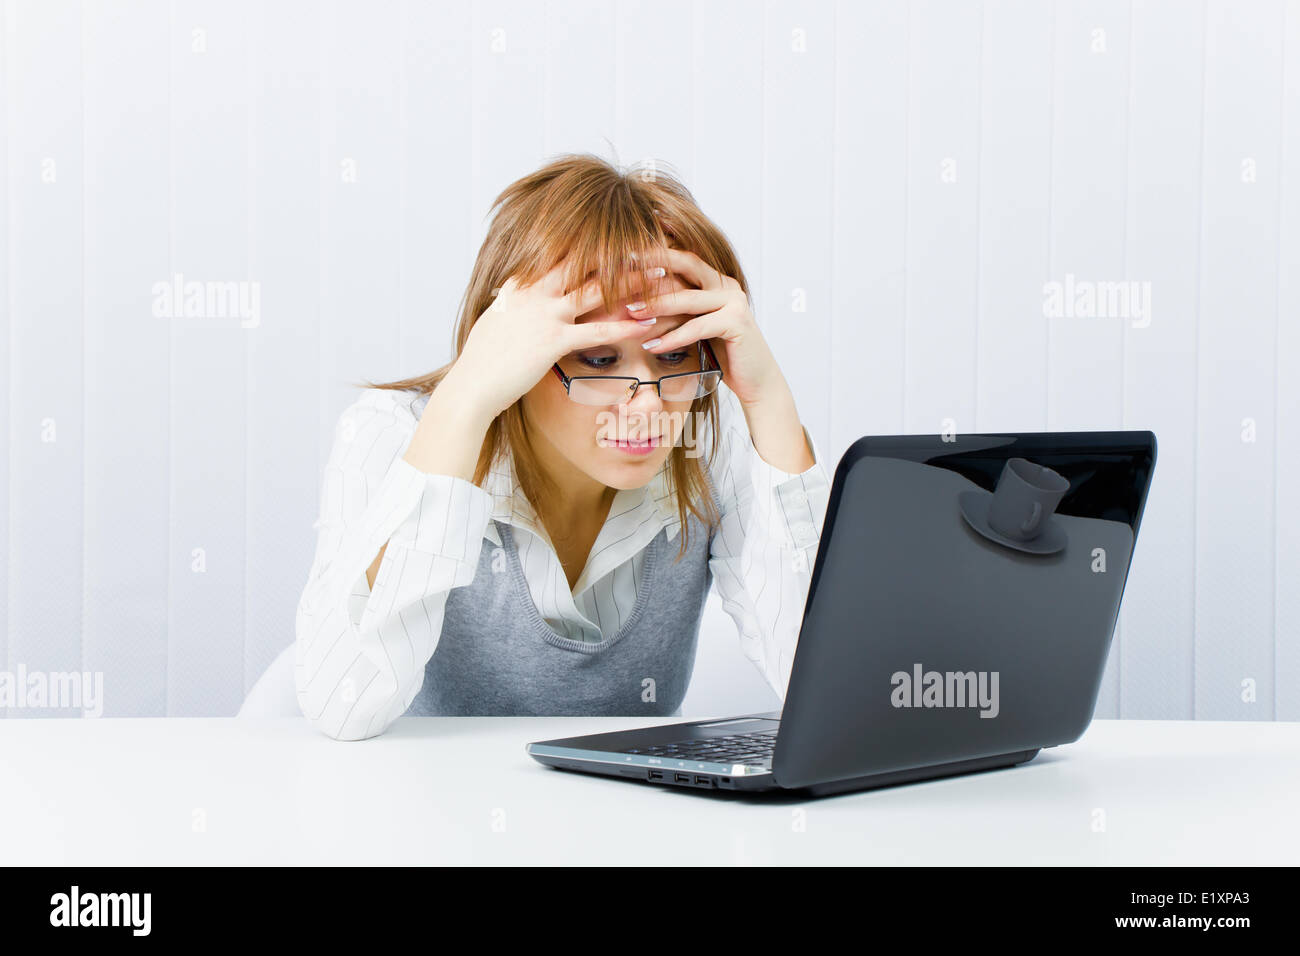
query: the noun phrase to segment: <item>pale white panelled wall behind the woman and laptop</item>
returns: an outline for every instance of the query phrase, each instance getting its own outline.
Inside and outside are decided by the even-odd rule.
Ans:
[[[1300,718],[1300,1],[9,0],[0,31],[10,671],[235,713],[350,382],[446,362],[491,199],[588,151],[733,239],[829,471],[868,433],[1154,431],[1097,715]],[[260,323],[155,316],[176,273],[259,282]],[[1067,274],[1150,282],[1149,324],[1046,317]],[[772,700],[711,602],[686,713]]]

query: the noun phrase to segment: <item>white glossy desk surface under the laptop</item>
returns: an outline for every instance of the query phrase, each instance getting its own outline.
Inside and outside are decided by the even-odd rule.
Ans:
[[[1296,864],[1300,724],[1095,721],[1030,763],[776,801],[552,770],[645,718],[0,721],[0,861]]]

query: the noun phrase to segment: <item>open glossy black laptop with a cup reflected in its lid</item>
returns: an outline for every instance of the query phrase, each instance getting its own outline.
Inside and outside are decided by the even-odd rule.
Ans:
[[[862,437],[781,710],[528,744],[647,784],[823,796],[1013,767],[1092,721],[1152,432]]]

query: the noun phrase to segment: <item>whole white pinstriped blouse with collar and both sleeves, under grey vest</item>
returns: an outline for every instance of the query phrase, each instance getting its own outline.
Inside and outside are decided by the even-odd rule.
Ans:
[[[784,700],[829,480],[806,428],[815,463],[784,472],[754,449],[734,393],[723,385],[718,399],[720,440],[707,467],[723,511],[708,566],[745,656]],[[623,626],[646,546],[660,529],[670,541],[680,529],[666,463],[647,485],[615,494],[571,592],[508,454],[482,488],[402,458],[425,401],[365,389],[334,432],[316,557],[296,613],[295,682],[303,713],[335,739],[381,734],[411,705],[438,645],[447,592],[473,580],[485,540],[500,546],[493,519],[530,532],[515,541],[532,598],[559,633],[585,641]],[[697,437],[707,451],[707,431]],[[372,593],[365,571],[385,541]]]

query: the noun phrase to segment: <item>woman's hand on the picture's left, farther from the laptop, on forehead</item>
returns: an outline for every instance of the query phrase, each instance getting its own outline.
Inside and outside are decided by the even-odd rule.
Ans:
[[[566,294],[567,264],[562,261],[530,286],[510,276],[469,330],[448,376],[460,382],[458,395],[473,395],[469,401],[481,403],[486,419],[514,405],[564,355],[649,333],[647,326],[623,316],[576,323],[577,316],[601,306],[601,285],[598,277],[589,276]],[[644,282],[632,285],[633,276],[650,274],[653,271],[629,269],[620,289],[642,289]]]

